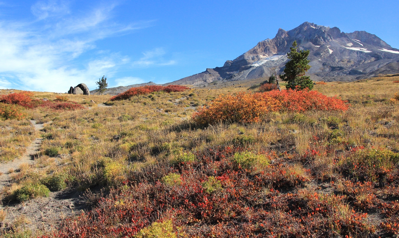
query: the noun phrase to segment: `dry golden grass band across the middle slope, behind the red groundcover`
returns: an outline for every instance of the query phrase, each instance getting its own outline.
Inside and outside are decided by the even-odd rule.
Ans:
[[[301,113],[303,119],[300,121],[296,119],[296,113],[273,112],[259,123],[217,124],[205,128],[194,128],[190,124],[196,106],[206,105],[220,94],[247,92],[248,88],[262,80],[243,82],[241,88],[235,85],[210,90],[194,88],[181,93],[156,92],[112,103],[107,102],[111,97],[107,95],[62,94],[87,109],[29,109],[28,119],[47,123],[38,132],[27,124],[28,121],[0,122],[2,151],[4,148],[15,149],[17,144],[23,148],[35,137],[44,138],[35,166],[21,165],[21,174],[27,176],[14,176],[14,184],[4,190],[4,196],[12,197],[22,185],[40,182],[40,179],[52,174],[66,174],[67,184],[78,191],[96,186],[118,187],[128,171],[160,160],[174,161],[176,154],[173,151],[189,152],[208,146],[241,143],[253,151],[275,151],[281,156],[287,152],[302,156],[312,146],[310,140],[313,136],[329,135],[334,128],[341,130],[338,138],[326,143],[331,143],[336,151],[357,145],[399,150],[399,123],[395,120],[399,116],[399,105],[389,100],[395,92],[399,92],[399,84],[394,83],[396,80],[399,77],[378,77],[314,86],[315,90],[327,96],[338,95],[350,101],[351,107],[345,112],[308,111]],[[4,92],[0,90],[0,94]],[[36,98],[47,99],[55,99],[59,95],[48,92],[34,94]],[[97,106],[105,102],[111,106]],[[337,125],[329,124],[331,118],[336,119]],[[14,157],[21,154],[13,153]],[[2,160],[9,159],[3,156]],[[320,179],[334,176],[333,164],[332,158],[320,154],[307,166],[318,168],[317,179]],[[119,168],[117,172],[114,170],[116,166]],[[292,174],[306,177],[300,164],[290,166],[289,170]],[[106,176],[104,172],[107,172]],[[30,177],[31,174],[34,176]],[[346,205],[337,209],[348,213]]]

